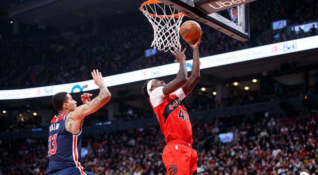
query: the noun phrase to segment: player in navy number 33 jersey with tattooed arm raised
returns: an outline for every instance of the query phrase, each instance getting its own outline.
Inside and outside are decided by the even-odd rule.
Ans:
[[[45,174],[60,175],[94,175],[85,171],[80,161],[82,125],[84,117],[95,112],[106,104],[110,98],[101,73],[93,70],[92,76],[100,93],[92,101],[92,94],[81,95],[83,105],[76,107],[77,102],[67,92],[60,92],[52,97],[52,103],[59,115],[50,123],[48,155],[49,166]]]

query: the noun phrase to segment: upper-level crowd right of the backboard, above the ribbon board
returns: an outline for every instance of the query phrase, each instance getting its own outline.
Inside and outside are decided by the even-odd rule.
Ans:
[[[260,10],[261,12],[257,15],[256,20],[251,20],[251,28],[257,28],[256,31],[253,31],[255,33],[258,33],[258,35],[262,35],[265,30],[269,29],[271,27],[271,23],[268,23],[268,21],[278,21],[282,19],[290,20],[289,25],[287,28],[284,28],[282,31],[273,32],[269,34],[269,37],[265,37],[263,40],[259,41],[259,45],[267,45],[277,42],[283,42],[287,40],[292,39],[299,39],[304,38],[308,36],[314,36],[317,35],[317,26],[313,26],[315,29],[311,30],[309,32],[304,32],[303,29],[301,29],[299,32],[295,32],[294,26],[297,24],[304,24],[306,22],[316,22],[318,17],[318,12],[315,10],[318,6],[317,3],[315,3],[314,0],[306,0],[306,1],[276,1],[276,2],[263,2],[267,3],[266,7],[271,8],[262,8],[262,3],[258,3],[258,7],[256,9]],[[254,7],[252,7],[254,8]],[[254,14],[257,14],[257,12],[252,12],[251,15],[254,16]],[[262,24],[265,24],[265,30],[264,26]],[[279,37],[274,37],[275,34],[279,33]]]

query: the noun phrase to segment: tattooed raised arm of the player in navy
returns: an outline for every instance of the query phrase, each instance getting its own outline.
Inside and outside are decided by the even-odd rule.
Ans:
[[[111,98],[111,94],[104,83],[101,73],[98,72],[98,70],[93,70],[92,76],[95,84],[98,85],[100,89],[100,93],[89,103],[79,106],[74,111],[66,115],[65,129],[68,132],[78,134],[84,117],[95,112],[97,109],[106,104]]]

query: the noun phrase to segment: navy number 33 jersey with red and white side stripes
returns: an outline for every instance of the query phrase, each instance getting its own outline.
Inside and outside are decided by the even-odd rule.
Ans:
[[[82,129],[79,134],[66,131],[64,119],[67,114],[68,112],[65,112],[60,117],[55,115],[50,123],[47,152],[49,166],[45,174],[86,175],[80,162]]]

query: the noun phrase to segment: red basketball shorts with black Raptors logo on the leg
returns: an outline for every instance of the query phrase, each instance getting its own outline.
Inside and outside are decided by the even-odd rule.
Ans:
[[[183,140],[173,140],[163,149],[162,161],[168,175],[196,175],[197,151]]]

